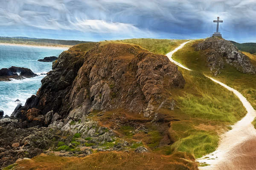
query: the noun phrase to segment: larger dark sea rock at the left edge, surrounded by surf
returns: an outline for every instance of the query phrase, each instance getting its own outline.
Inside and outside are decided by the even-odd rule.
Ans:
[[[10,79],[23,79],[36,77],[37,74],[33,73],[29,68],[21,68],[12,66],[11,68],[2,68],[0,70],[0,81],[11,81]]]

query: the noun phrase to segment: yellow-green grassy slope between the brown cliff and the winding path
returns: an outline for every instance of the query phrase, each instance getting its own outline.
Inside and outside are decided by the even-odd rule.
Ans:
[[[180,121],[171,122],[170,136],[175,143],[163,147],[163,150],[168,155],[182,151],[199,158],[218,146],[217,131],[227,130],[229,125],[246,114],[246,110],[232,92],[212,82],[199,71],[179,70],[185,79],[185,87],[169,91],[178,109],[160,111]]]

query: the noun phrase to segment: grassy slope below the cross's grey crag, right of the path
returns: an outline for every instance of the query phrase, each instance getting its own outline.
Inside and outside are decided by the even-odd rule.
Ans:
[[[195,41],[188,43],[182,50],[177,51],[173,59],[192,70],[200,71],[212,77],[212,73],[209,71],[209,68],[207,68],[207,57],[204,56],[203,51],[195,51],[192,47],[193,43],[195,43]],[[256,56],[250,55],[249,58],[252,63],[255,63]],[[215,77],[215,79],[241,92],[251,105],[253,105],[253,108],[256,108],[256,75],[244,74],[230,65],[225,65],[225,68],[221,70],[221,74]]]

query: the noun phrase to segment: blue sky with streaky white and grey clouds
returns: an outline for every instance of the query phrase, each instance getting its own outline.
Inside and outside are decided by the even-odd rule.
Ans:
[[[0,36],[256,42],[256,0],[0,0]]]

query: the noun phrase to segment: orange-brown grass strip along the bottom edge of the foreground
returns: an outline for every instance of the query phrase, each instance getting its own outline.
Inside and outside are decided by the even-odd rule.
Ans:
[[[154,153],[105,152],[84,158],[46,156],[18,162],[19,170],[188,170],[184,155],[160,156]],[[175,161],[173,161],[175,160]],[[187,167],[196,167],[194,162]]]

